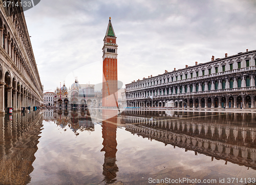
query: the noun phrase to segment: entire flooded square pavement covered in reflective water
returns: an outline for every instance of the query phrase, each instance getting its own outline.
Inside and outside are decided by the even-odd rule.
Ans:
[[[256,180],[256,113],[44,110],[0,118],[0,184]]]

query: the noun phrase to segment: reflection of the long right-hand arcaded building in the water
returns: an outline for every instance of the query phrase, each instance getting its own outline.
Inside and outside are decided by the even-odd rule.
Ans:
[[[132,110],[122,112],[121,122],[142,137],[256,169],[255,119],[254,113]]]

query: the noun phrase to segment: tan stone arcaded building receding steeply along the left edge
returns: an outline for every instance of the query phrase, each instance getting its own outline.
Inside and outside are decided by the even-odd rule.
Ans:
[[[0,3],[0,45],[0,112],[39,106],[43,89],[22,7]]]

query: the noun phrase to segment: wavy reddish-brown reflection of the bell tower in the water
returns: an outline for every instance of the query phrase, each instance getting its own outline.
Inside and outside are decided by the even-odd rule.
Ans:
[[[115,115],[112,117],[112,115]],[[105,152],[104,164],[103,164],[103,175],[106,183],[113,183],[116,181],[116,173],[118,167],[116,165],[116,129],[117,129],[117,110],[103,110],[102,111],[102,137],[103,137],[103,148],[101,151]],[[112,118],[111,118],[112,117]],[[108,119],[110,118],[110,119]]]

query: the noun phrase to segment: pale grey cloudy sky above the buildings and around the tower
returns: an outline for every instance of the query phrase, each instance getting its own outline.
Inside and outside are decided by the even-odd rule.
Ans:
[[[46,91],[102,82],[103,38],[111,16],[123,84],[256,50],[254,0],[41,0],[24,12]]]

